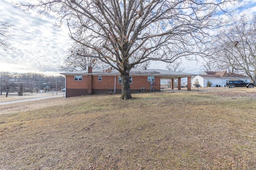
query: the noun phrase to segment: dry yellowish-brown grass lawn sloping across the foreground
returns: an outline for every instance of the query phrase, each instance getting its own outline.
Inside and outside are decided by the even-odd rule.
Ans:
[[[0,169],[256,169],[256,89],[0,106]]]

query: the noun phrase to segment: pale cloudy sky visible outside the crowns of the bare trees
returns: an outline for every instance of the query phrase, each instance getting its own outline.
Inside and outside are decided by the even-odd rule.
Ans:
[[[68,29],[64,25],[61,30],[54,28],[54,16],[38,18],[36,12],[24,14],[22,10],[13,8],[11,2],[27,4],[28,0],[0,0],[0,20],[14,24],[12,29],[13,49],[4,51],[0,48],[0,71],[18,73],[43,73],[59,75],[59,66],[63,58],[67,57],[72,41],[68,36]],[[243,11],[256,14],[256,0],[242,0],[245,4]],[[183,72],[199,73],[201,64],[182,61]],[[148,69],[165,69],[166,63],[152,62]]]

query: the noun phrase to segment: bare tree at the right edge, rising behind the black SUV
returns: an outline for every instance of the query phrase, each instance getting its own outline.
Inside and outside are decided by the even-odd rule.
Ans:
[[[246,73],[256,83],[256,15],[232,18],[232,25],[223,28],[215,40],[212,58],[223,69]]]

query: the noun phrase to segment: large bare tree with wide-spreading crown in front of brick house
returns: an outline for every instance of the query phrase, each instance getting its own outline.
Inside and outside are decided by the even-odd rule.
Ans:
[[[225,24],[217,13],[238,0],[38,0],[20,4],[40,14],[54,12],[66,21],[70,37],[97,52],[102,62],[120,72],[121,99],[130,99],[129,73],[138,64],[155,60],[172,63],[202,55],[210,30]],[[19,5],[18,5],[19,6]],[[141,51],[135,60],[134,53]],[[191,57],[191,56],[190,56]]]

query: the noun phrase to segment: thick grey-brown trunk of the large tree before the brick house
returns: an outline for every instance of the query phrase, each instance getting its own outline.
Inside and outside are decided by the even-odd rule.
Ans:
[[[122,94],[121,94],[120,99],[131,99],[132,95],[130,93],[129,71],[123,71],[121,74],[121,78],[122,78]]]

